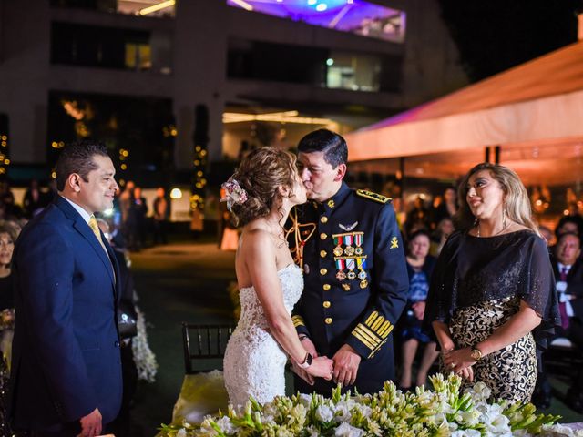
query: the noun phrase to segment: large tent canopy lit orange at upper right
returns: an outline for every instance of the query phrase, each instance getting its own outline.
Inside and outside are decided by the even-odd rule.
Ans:
[[[583,154],[583,42],[347,134],[351,161],[439,154],[439,171],[464,173],[468,150],[501,146],[525,182],[578,180]],[[446,152],[446,153],[444,153]],[[483,151],[473,159],[479,162]],[[407,159],[410,160],[410,159]],[[447,162],[449,161],[449,163]],[[449,166],[449,170],[447,169]],[[430,166],[431,167],[431,166]]]

